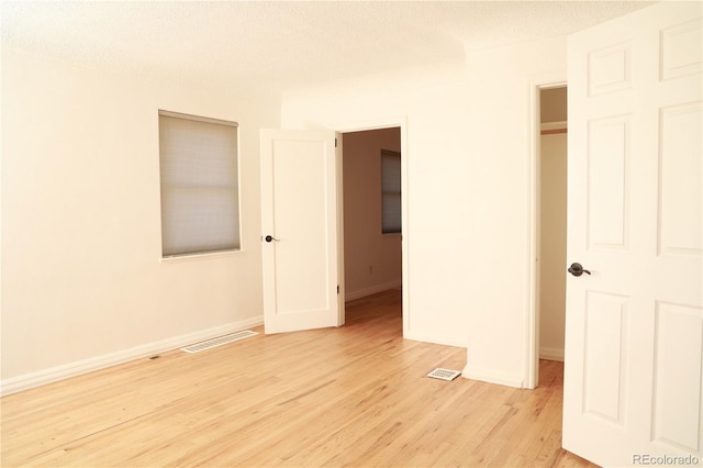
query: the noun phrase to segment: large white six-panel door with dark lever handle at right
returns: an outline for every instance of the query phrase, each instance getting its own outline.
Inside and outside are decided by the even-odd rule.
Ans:
[[[569,38],[567,250],[590,275],[567,280],[563,447],[602,466],[703,460],[701,85],[701,2]]]

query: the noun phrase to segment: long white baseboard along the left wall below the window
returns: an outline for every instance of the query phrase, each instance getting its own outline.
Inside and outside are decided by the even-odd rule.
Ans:
[[[189,333],[186,335],[174,336],[171,338],[161,339],[159,342],[135,346],[116,353],[110,353],[76,363],[64,364],[48,369],[24,374],[18,377],[11,377],[9,379],[3,379],[0,381],[0,395],[16,393],[19,391],[29,390],[34,387],[44,386],[47,383],[56,382],[58,380],[80,376],[87,372],[92,372],[93,370],[104,369],[105,367],[111,367],[130,360],[152,356],[154,354],[177,349],[193,343],[203,342],[205,339],[226,335],[228,333],[238,332],[252,326],[258,326],[263,323],[264,317],[257,316],[222,326],[201,330],[199,332]]]

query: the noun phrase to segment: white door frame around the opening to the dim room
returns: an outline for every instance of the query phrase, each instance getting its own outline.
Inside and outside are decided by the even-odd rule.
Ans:
[[[337,278],[339,280],[339,326],[344,325],[346,316],[345,308],[345,279],[344,279],[344,134],[354,132],[365,132],[368,130],[383,130],[400,127],[400,177],[401,177],[401,283],[402,283],[402,315],[403,336],[408,336],[410,328],[410,216],[409,216],[409,183],[408,183],[408,116],[389,116],[373,120],[359,120],[346,124],[336,125],[335,134],[337,138],[336,160],[337,160]]]

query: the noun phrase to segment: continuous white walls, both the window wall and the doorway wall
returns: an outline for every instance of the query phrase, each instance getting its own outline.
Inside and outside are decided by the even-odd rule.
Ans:
[[[237,99],[2,52],[2,383],[23,388],[260,322],[258,131],[406,121],[406,337],[520,386],[531,86],[566,38]],[[562,79],[563,79],[562,78]],[[230,90],[231,91],[231,90]],[[157,110],[239,122],[243,252],[159,263]],[[280,121],[279,121],[280,116]]]

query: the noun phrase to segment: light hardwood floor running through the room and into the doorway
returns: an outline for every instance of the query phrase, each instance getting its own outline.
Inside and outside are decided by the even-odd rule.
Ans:
[[[562,365],[537,390],[425,375],[464,348],[402,338],[400,291],[347,325],[174,350],[4,397],[3,467],[592,466],[560,448]],[[263,332],[263,330],[257,330]]]

